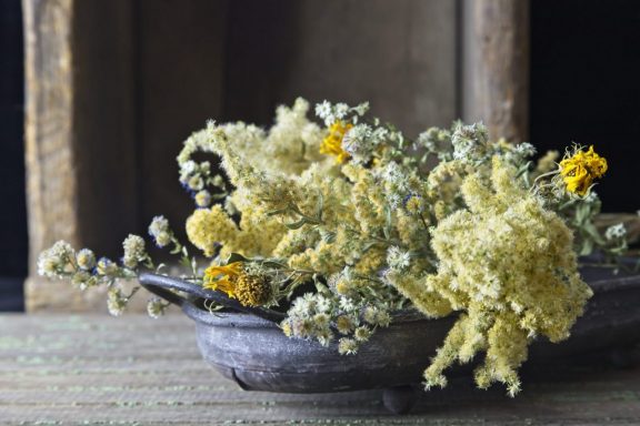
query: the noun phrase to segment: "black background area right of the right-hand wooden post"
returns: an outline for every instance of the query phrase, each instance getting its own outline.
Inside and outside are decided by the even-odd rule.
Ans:
[[[531,142],[593,144],[604,210],[638,211],[640,1],[532,1],[530,97]]]

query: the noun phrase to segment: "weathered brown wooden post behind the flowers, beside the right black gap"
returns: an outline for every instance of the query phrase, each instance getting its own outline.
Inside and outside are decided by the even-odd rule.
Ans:
[[[529,0],[463,0],[463,119],[520,142],[529,126]]]

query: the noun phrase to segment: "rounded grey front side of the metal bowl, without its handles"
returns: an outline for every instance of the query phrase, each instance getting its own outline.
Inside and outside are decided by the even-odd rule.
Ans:
[[[196,321],[204,359],[248,390],[319,393],[370,389],[420,382],[452,320],[426,326],[417,315],[399,315],[356,355],[338,354],[337,343],[290,339],[274,324],[248,315],[204,316]]]

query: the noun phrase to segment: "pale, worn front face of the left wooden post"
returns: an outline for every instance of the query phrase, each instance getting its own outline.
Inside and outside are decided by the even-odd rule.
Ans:
[[[72,244],[80,241],[73,150],[73,1],[24,0],[22,9],[31,275],[24,293],[31,310],[41,303],[40,283],[34,278],[38,253],[58,239]]]

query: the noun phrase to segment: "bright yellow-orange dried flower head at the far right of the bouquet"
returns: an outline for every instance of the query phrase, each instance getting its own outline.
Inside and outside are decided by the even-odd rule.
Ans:
[[[596,152],[593,145],[584,152],[581,148],[574,150],[571,156],[566,155],[560,162],[560,175],[567,185],[567,191],[584,196],[593,181],[607,172],[607,160]]]

